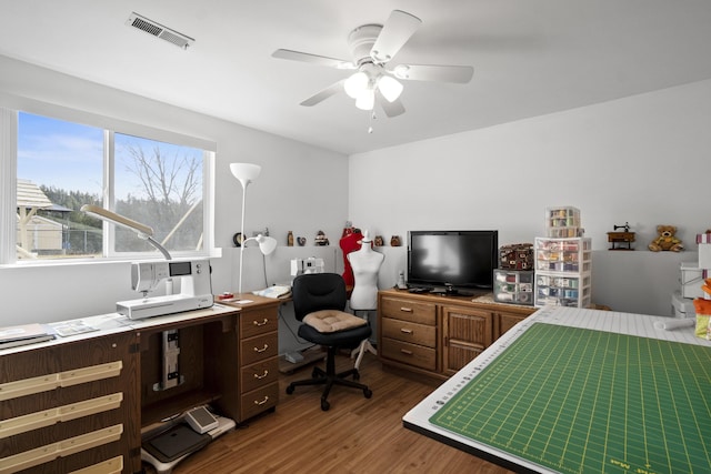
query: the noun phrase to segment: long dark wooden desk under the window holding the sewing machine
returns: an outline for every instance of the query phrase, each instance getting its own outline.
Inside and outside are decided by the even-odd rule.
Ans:
[[[141,431],[197,405],[242,422],[277,405],[279,301],[131,321],[0,351],[0,472],[141,471]],[[54,323],[59,324],[59,323]],[[177,331],[181,383],[157,390],[162,335]]]

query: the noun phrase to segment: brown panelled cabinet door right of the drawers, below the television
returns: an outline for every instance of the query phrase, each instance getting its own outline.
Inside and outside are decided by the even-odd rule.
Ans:
[[[463,306],[442,306],[442,370],[453,375],[493,341],[493,314]]]

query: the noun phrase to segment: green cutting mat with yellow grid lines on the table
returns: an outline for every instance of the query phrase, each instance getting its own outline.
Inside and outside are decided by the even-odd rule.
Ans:
[[[561,473],[709,473],[711,347],[535,323],[430,422]]]

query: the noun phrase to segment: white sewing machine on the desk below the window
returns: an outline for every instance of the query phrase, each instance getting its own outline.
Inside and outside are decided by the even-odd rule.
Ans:
[[[174,278],[180,279],[179,294],[172,294]],[[148,297],[148,293],[163,281],[168,294]],[[210,261],[207,259],[133,263],[131,288],[143,293],[143,297],[116,303],[117,312],[131,320],[210,307],[213,303]]]

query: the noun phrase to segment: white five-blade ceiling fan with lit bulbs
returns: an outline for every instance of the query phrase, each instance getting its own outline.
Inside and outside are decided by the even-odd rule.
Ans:
[[[397,117],[404,112],[400,101],[403,85],[399,79],[467,83],[474,73],[470,65],[397,64],[389,69],[390,61],[421,23],[422,20],[413,14],[393,10],[384,24],[363,24],[356,28],[348,37],[352,61],[288,49],[278,49],[272,57],[357,70],[350,77],[311,95],[301,102],[301,105],[316,105],[344,90],[349,97],[356,99],[357,108],[373,110],[377,100],[385,115]]]

